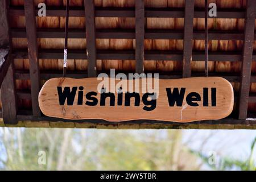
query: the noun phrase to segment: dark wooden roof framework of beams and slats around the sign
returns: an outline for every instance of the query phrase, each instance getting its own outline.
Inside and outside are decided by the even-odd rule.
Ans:
[[[203,51],[194,51],[192,40],[204,39],[204,31],[193,30],[193,19],[204,18],[204,9],[194,7],[195,1],[185,1],[183,8],[145,7],[144,0],[136,0],[135,7],[95,7],[93,0],[84,0],[81,7],[71,7],[69,16],[85,17],[85,29],[69,30],[69,39],[86,39],[86,50],[71,49],[68,59],[86,59],[86,71],[68,71],[67,77],[96,77],[97,59],[134,60],[135,72],[144,72],[144,60],[172,60],[182,63],[182,71],[160,73],[160,78],[181,78],[204,76],[203,72],[192,72],[191,60],[204,61]],[[209,76],[220,76],[230,82],[240,82],[239,92],[235,92],[236,107],[228,117],[218,121],[200,121],[192,123],[174,123],[161,121],[129,121],[107,122],[102,120],[68,121],[42,115],[38,105],[40,80],[61,77],[58,71],[40,71],[39,59],[63,59],[63,49],[42,49],[38,46],[38,38],[64,38],[60,28],[37,28],[36,16],[38,9],[34,1],[24,0],[24,6],[11,6],[7,0],[0,2],[0,48],[8,48],[9,54],[1,58],[0,81],[5,75],[1,86],[2,110],[0,126],[20,127],[86,127],[106,129],[256,129],[256,111],[247,111],[248,103],[256,103],[256,94],[250,93],[251,83],[256,82],[256,75],[251,73],[251,64],[256,61],[253,52],[255,36],[256,0],[247,0],[245,8],[217,9],[217,18],[245,19],[243,31],[209,30],[209,40],[242,40],[242,51],[209,52],[209,60],[241,62],[240,72],[209,72]],[[47,16],[65,16],[65,7],[51,7]],[[11,28],[10,15],[24,16],[26,28]],[[135,18],[135,29],[97,29],[96,17],[129,17]],[[148,29],[144,27],[145,18],[184,18],[183,30]],[[214,18],[214,17],[209,17]],[[12,38],[27,38],[28,48],[13,48]],[[96,39],[135,39],[135,49],[101,50],[96,47]],[[183,39],[182,51],[146,50],[144,39]],[[86,54],[86,51],[88,54]],[[1,51],[2,52],[2,51]],[[1,54],[0,54],[1,55]],[[1,56],[0,56],[1,57]],[[15,69],[14,59],[29,59],[30,68]],[[1,63],[1,62],[0,62]],[[2,71],[3,70],[3,71]],[[2,75],[3,74],[3,75]],[[31,90],[17,90],[15,80],[30,80]],[[19,99],[31,100],[31,109],[18,107]]]

